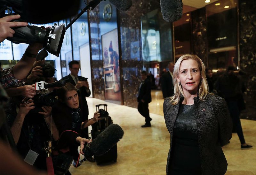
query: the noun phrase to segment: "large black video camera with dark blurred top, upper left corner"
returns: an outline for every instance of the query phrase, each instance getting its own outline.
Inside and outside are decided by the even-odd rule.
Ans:
[[[50,7],[54,7],[51,12],[46,12]],[[27,21],[33,24],[45,24],[55,22],[75,16],[79,10],[80,1],[74,0],[72,3],[63,3],[60,0],[49,1],[38,5],[33,0],[0,0],[0,18],[5,16],[5,10],[20,14],[21,18],[14,21]],[[37,26],[26,26],[13,28],[15,34],[13,37],[7,38],[15,44],[35,42],[42,43],[47,51],[59,57],[60,49],[65,34],[65,24],[58,26],[54,24],[52,27],[43,29]]]

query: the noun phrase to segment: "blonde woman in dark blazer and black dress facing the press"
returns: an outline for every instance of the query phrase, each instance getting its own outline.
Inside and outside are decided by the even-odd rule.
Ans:
[[[171,145],[166,174],[223,175],[222,146],[232,135],[224,98],[208,93],[205,68],[196,55],[181,56],[173,71],[174,95],[164,100]]]

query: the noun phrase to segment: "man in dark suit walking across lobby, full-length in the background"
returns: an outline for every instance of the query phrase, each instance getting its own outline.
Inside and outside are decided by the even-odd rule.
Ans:
[[[141,79],[143,80],[140,83],[139,94],[137,97],[138,111],[140,114],[145,117],[145,125],[141,127],[151,127],[150,121],[152,118],[149,117],[148,103],[151,102],[151,82],[146,71],[141,72]]]

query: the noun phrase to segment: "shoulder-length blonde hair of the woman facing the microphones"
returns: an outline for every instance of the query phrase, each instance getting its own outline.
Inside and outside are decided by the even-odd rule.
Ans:
[[[187,103],[187,99],[182,91],[182,87],[179,85],[177,78],[179,77],[181,62],[183,60],[188,60],[188,59],[192,59],[197,62],[200,70],[200,75],[202,77],[199,83],[199,90],[198,90],[199,99],[203,101],[208,93],[208,84],[207,84],[206,75],[205,75],[205,67],[202,60],[197,55],[182,55],[174,65],[173,76],[172,76],[173,86],[174,86],[174,95],[171,97],[172,105],[179,103],[180,95],[184,96],[185,103]]]

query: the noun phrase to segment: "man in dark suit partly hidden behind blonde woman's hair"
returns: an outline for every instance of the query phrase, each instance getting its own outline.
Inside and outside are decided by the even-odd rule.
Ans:
[[[169,71],[165,72],[161,79],[161,88],[163,92],[163,97],[170,97],[174,93],[173,83],[172,83],[172,73],[173,73],[174,64],[170,62],[168,64]]]

